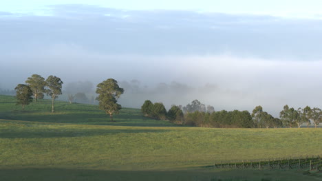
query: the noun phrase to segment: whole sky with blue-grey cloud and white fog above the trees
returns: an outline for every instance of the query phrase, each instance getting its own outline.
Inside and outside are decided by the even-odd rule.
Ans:
[[[161,3],[162,2],[162,3]],[[144,100],[216,110],[322,107],[322,1],[4,1],[0,89],[32,74],[115,78]],[[93,87],[93,92],[94,92]],[[64,87],[63,87],[64,89]]]

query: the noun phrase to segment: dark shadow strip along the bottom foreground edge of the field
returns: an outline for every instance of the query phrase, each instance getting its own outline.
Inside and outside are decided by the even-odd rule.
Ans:
[[[285,175],[284,175],[285,174]],[[301,173],[274,171],[103,171],[81,169],[0,169],[1,180],[235,181],[315,180]]]

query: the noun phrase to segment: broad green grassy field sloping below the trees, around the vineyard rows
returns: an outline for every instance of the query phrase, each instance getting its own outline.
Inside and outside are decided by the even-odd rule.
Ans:
[[[301,171],[200,167],[322,156],[322,129],[178,127],[138,109],[122,109],[112,123],[96,105],[58,101],[52,114],[48,100],[25,109],[0,96],[0,178],[6,180],[321,180]]]

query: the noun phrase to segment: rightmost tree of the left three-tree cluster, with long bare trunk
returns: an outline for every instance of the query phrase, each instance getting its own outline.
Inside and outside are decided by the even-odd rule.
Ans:
[[[56,76],[48,76],[46,79],[46,86],[48,87],[46,90],[47,95],[52,98],[52,112],[54,112],[54,101],[58,98],[58,95],[61,95],[63,81]]]

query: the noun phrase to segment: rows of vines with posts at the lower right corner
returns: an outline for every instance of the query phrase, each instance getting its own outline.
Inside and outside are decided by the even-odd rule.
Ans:
[[[310,169],[322,171],[322,158],[320,156],[279,158],[270,160],[253,160],[239,162],[220,162],[213,164],[217,169]]]

